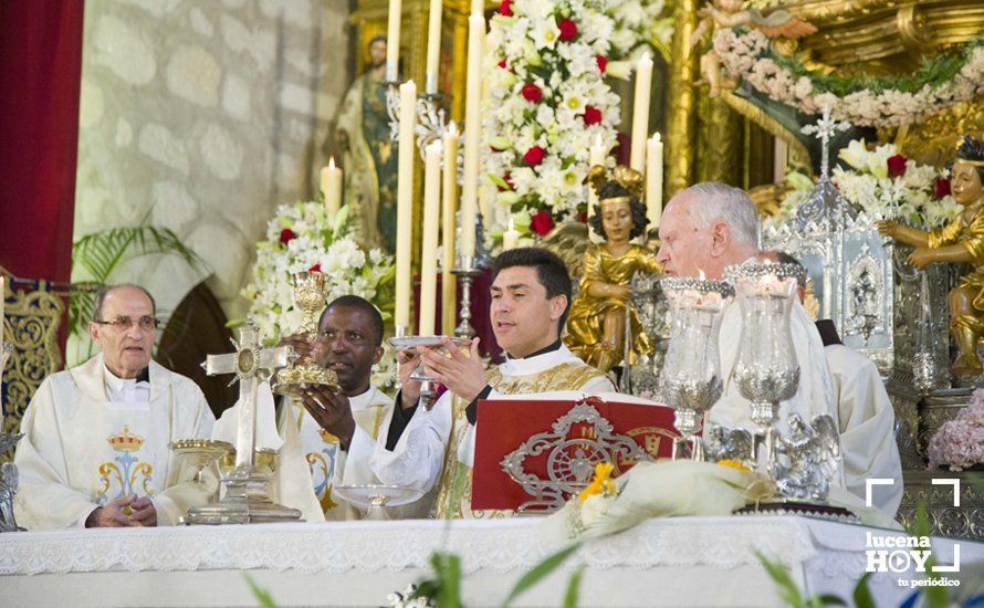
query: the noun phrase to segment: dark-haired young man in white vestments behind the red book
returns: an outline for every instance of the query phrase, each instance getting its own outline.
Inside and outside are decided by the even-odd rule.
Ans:
[[[586,365],[561,342],[570,303],[564,262],[544,249],[513,249],[492,269],[490,316],[505,363],[485,370],[478,339],[464,353],[446,340],[447,353],[421,347],[400,354],[402,390],[386,444],[370,460],[384,483],[437,493],[441,518],[482,516],[471,510],[471,469],[478,402],[500,395],[614,390],[609,377]],[[421,385],[410,373],[422,360],[428,376],[448,387],[431,410],[420,405]],[[502,513],[505,514],[505,513]]]

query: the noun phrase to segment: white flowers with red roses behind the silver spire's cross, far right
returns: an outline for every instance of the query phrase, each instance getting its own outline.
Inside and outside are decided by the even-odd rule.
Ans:
[[[923,230],[949,223],[962,211],[950,195],[949,171],[938,172],[899,154],[893,144],[869,150],[855,139],[839,153],[849,168],[836,167],[830,181],[844,198],[870,220],[898,219]],[[786,195],[778,221],[795,214],[807,198],[812,181],[791,174],[794,190]]]

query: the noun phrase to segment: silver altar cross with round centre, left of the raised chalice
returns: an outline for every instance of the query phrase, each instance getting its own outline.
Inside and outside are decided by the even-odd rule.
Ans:
[[[235,434],[235,467],[252,469],[257,449],[257,388],[269,370],[286,367],[294,356],[290,346],[260,348],[260,334],[252,325],[239,329],[239,340],[232,340],[235,353],[208,355],[201,367],[209,376],[235,374],[229,386],[239,381],[239,418]],[[259,380],[259,381],[258,381]]]

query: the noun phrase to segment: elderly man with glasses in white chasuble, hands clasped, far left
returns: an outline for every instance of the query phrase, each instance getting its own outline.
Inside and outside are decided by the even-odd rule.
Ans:
[[[193,381],[150,360],[155,313],[137,285],[96,294],[90,335],[100,354],[46,378],[21,422],[20,525],[170,525],[214,492],[171,460],[170,441],[208,438],[216,419]]]

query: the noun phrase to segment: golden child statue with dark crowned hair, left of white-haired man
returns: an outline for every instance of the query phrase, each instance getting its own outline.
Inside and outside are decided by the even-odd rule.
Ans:
[[[632,343],[625,348],[626,306],[632,295],[636,271],[662,272],[650,249],[634,244],[646,233],[649,220],[640,200],[642,176],[626,167],[616,167],[608,179],[604,167],[593,167],[588,181],[598,195],[598,205],[589,220],[600,244],[588,245],[582,266],[580,287],[570,306],[564,342],[578,357],[603,371],[622,360],[624,352],[647,354],[652,340],[630,311]]]

